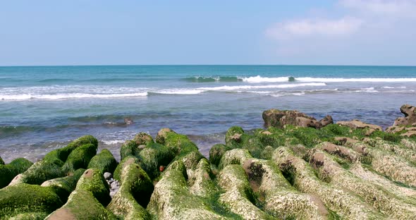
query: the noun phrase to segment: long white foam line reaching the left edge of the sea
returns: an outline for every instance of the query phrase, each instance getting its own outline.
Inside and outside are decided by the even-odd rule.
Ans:
[[[147,92],[125,94],[0,94],[0,100],[27,100],[27,99],[80,99],[80,98],[114,98],[114,97],[145,97]]]

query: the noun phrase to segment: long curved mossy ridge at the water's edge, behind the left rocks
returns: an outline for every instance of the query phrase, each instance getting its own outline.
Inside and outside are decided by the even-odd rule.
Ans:
[[[66,147],[54,149],[53,151],[49,152],[45,155],[43,160],[50,161],[59,166],[63,166],[69,154],[71,154],[74,149],[87,144],[92,144],[95,147],[98,147],[98,140],[92,135],[82,136],[81,138],[70,142]]]

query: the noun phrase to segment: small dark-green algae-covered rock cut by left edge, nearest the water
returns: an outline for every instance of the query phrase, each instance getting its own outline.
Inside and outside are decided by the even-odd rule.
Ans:
[[[0,164],[0,188],[4,188],[15,176],[29,169],[32,164],[31,161],[24,158],[14,159],[6,165]]]

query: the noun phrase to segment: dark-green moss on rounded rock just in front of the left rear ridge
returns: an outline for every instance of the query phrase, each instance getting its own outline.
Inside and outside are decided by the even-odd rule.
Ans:
[[[82,145],[74,149],[66,159],[62,170],[65,172],[75,171],[80,168],[87,168],[88,163],[97,153],[97,146],[92,144]]]

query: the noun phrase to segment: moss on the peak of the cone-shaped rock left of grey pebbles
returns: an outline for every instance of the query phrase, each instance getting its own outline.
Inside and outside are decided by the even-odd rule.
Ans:
[[[102,173],[98,169],[87,169],[77,183],[75,190],[86,190],[105,207],[109,204],[109,184],[104,180]]]

